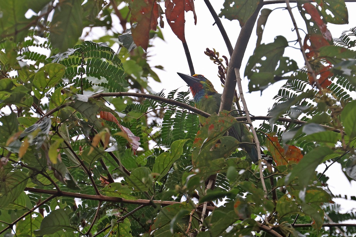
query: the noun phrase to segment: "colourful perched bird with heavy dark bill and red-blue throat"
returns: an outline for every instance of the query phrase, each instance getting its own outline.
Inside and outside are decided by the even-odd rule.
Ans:
[[[188,84],[193,94],[195,107],[209,114],[218,113],[221,103],[221,94],[215,89],[213,84],[203,75],[194,74],[189,76],[177,72],[180,77]],[[235,108],[232,107],[231,110]],[[232,116],[237,117],[237,112],[232,112]],[[199,115],[199,121],[204,124],[206,118]],[[253,143],[253,137],[245,123],[237,123],[229,130],[229,136],[236,138],[239,142]],[[256,162],[258,160],[257,149],[253,144],[241,144],[241,148],[247,152],[248,157]]]

